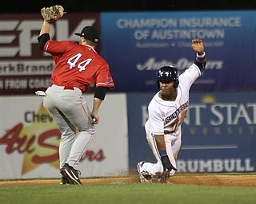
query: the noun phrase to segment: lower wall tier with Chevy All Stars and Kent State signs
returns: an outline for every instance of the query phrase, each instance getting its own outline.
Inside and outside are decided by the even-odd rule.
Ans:
[[[82,176],[110,176],[155,162],[143,124],[154,93],[109,93],[96,135],[79,167]],[[91,108],[93,95],[84,96]],[[182,125],[178,172],[253,172],[255,92],[191,93]],[[40,96],[0,97],[0,179],[55,178],[60,133]]]

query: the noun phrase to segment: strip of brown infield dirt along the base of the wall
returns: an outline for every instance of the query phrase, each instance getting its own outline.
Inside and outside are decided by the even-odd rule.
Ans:
[[[139,182],[138,175],[122,177],[106,177],[100,179],[81,179],[83,184],[104,183],[135,183]],[[198,175],[180,174],[168,179],[171,184],[187,184],[200,186],[256,186],[256,175]],[[27,180],[2,180],[0,186],[33,186],[59,184],[59,179],[27,179]]]

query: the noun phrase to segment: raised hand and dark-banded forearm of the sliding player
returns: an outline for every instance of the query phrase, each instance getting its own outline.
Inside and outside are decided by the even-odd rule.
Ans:
[[[195,58],[194,64],[198,66],[201,73],[206,67],[206,53],[204,51],[204,46],[202,40],[195,38],[192,40],[192,49],[197,53],[197,57]]]

